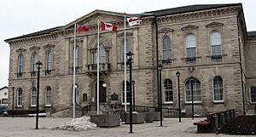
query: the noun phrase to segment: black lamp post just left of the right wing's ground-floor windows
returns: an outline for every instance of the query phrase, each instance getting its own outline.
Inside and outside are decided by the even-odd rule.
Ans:
[[[163,110],[162,110],[162,69],[163,66],[160,64],[158,65],[159,70],[159,93],[160,93],[160,127],[163,126]]]

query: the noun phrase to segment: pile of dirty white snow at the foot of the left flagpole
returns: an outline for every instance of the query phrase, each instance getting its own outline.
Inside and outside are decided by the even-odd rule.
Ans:
[[[96,128],[95,123],[90,123],[90,117],[79,117],[75,118],[67,123],[63,123],[58,127],[49,129],[62,129],[62,130],[73,130],[73,131],[84,131]]]

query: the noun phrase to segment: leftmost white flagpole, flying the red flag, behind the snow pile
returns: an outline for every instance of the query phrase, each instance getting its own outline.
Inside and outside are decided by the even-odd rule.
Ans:
[[[76,85],[76,66],[75,66],[75,57],[76,57],[76,34],[77,33],[77,23],[74,24],[74,36],[73,36],[73,118],[76,117],[76,106],[75,106],[75,85]]]

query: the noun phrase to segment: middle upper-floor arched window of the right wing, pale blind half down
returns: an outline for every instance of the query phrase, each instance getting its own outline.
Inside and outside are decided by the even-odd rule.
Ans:
[[[189,34],[186,37],[187,58],[195,60],[195,48],[196,48],[195,35]]]

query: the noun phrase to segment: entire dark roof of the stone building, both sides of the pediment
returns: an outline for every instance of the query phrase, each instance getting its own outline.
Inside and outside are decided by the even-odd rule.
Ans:
[[[162,16],[167,14],[181,14],[181,13],[187,13],[187,12],[193,12],[193,11],[199,11],[199,10],[205,10],[205,9],[217,9],[217,8],[223,8],[223,7],[230,7],[230,6],[236,6],[241,5],[241,3],[230,3],[230,4],[203,4],[203,5],[190,5],[190,6],[183,6],[183,7],[177,7],[172,9],[161,9],[161,10],[155,10],[155,11],[149,11],[145,12],[143,14],[155,14],[156,16]],[[144,15],[147,16],[147,15]],[[10,40],[15,40],[18,38],[25,38],[25,37],[33,37],[38,35],[44,35],[49,34],[52,31],[60,31],[62,26],[57,26],[54,28],[50,28],[44,31],[37,31],[34,33],[26,34],[20,37],[13,37],[4,40],[5,42],[8,42]]]

